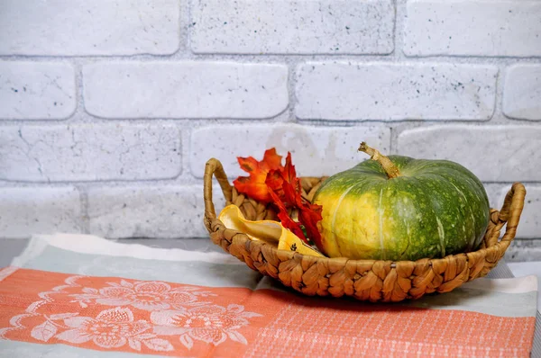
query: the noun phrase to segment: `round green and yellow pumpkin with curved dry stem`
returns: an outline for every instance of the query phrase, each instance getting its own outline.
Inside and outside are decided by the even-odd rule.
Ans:
[[[481,181],[447,160],[371,155],[328,178],[313,202],[323,206],[316,246],[329,257],[418,260],[481,245],[489,200]]]

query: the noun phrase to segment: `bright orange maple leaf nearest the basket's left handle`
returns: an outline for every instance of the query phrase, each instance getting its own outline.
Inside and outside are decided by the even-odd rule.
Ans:
[[[237,157],[243,171],[250,176],[239,176],[234,180],[234,187],[238,192],[243,192],[251,198],[268,203],[272,201],[269,188],[265,183],[267,174],[271,170],[280,170],[281,156],[276,153],[276,148],[265,151],[263,160],[258,162],[253,157]]]

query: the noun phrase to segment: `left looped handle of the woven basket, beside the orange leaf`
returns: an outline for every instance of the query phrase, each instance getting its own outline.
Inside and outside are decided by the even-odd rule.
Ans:
[[[216,212],[214,203],[212,202],[212,176],[215,176],[216,180],[224,192],[225,201],[231,202],[233,197],[233,188],[227,180],[225,175],[224,166],[218,159],[208,159],[205,165],[205,176],[203,177],[203,199],[205,200],[205,224],[207,228],[210,228],[210,222],[216,219]]]

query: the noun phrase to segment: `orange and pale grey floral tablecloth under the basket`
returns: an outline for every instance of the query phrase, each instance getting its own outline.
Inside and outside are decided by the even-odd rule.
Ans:
[[[527,357],[534,336],[533,276],[371,304],[300,296],[228,255],[98,237],[35,237],[14,264],[6,356]]]

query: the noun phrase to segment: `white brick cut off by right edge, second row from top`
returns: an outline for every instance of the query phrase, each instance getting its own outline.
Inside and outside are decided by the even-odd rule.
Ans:
[[[541,120],[541,65],[509,67],[503,87],[503,112],[519,120]]]

